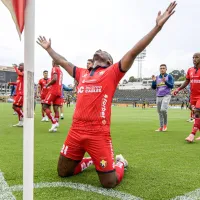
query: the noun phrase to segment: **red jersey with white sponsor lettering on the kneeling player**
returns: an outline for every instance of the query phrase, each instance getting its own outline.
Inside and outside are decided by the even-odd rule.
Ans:
[[[96,67],[91,71],[74,68],[73,76],[78,86],[73,127],[93,131],[95,126],[101,131],[110,131],[112,98],[124,74],[121,62],[108,68]]]

